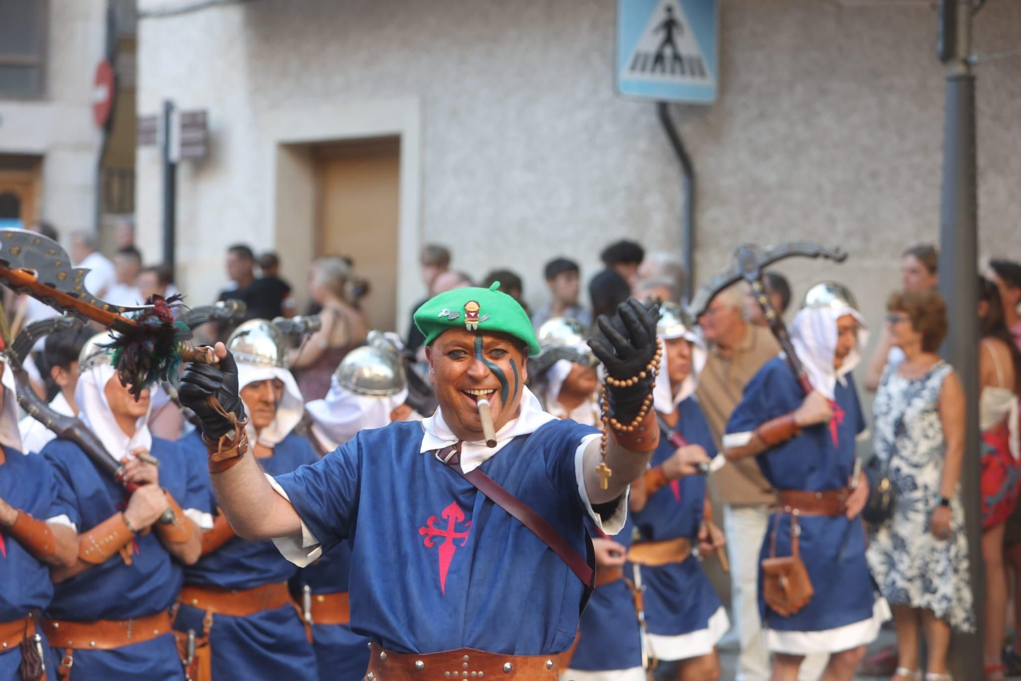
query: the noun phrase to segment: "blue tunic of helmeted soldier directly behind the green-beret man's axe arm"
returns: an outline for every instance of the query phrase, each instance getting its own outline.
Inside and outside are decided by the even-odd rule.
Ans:
[[[206,466],[206,447],[197,432],[180,441],[193,461]],[[288,435],[273,449],[273,456],[258,462],[271,475],[290,472],[317,460],[308,441]],[[209,476],[202,480],[201,494],[215,507]],[[223,589],[253,589],[264,584],[286,582],[297,569],[286,560],[272,541],[249,542],[240,537],[185,569],[185,582]],[[182,604],[174,628],[201,635],[203,610]],[[214,679],[314,679],[315,657],[305,636],[304,626],[290,604],[263,610],[246,618],[215,615],[209,630]]]

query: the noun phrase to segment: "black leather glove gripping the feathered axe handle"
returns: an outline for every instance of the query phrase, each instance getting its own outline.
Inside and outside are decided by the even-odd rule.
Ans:
[[[178,395],[181,404],[194,411],[202,421],[202,435],[206,440],[215,442],[234,429],[230,419],[208,403],[206,398],[210,395],[216,398],[224,411],[233,413],[239,421],[245,418],[245,403],[238,391],[238,365],[229,352],[218,364],[189,364],[181,377]]]

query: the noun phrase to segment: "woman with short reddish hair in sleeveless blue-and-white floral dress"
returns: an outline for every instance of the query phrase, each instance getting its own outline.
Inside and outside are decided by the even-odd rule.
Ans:
[[[886,329],[904,359],[883,372],[873,406],[876,465],[897,490],[892,516],[874,529],[868,558],[893,606],[897,670],[893,681],[950,681],[951,630],[975,628],[968,542],[958,480],[964,457],[961,381],[936,351],[946,335],[946,306],[933,290],[893,293]]]

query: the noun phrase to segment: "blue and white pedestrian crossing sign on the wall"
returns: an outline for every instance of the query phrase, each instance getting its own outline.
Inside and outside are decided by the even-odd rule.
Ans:
[[[718,0],[617,0],[617,91],[712,104],[719,78]]]

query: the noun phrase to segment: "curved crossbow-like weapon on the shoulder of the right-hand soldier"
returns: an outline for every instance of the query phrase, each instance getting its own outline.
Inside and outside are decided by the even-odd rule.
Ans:
[[[747,281],[751,288],[751,293],[755,296],[756,303],[762,308],[763,316],[769,323],[770,330],[776,336],[781,350],[783,350],[786,356],[787,365],[794,372],[794,376],[797,378],[801,390],[808,395],[812,392],[812,381],[809,380],[805,366],[798,359],[797,353],[794,352],[794,346],[790,342],[790,334],[787,333],[787,326],[783,323],[783,318],[773,309],[772,304],[769,302],[769,296],[766,292],[766,285],[763,283],[764,269],[773,263],[795,256],[800,258],[826,258],[835,263],[842,263],[847,259],[847,254],[839,246],[830,248],[814,241],[786,241],[766,248],[760,248],[753,243],[742,243],[734,248],[734,253],[731,256],[733,260],[731,268],[722,274],[716,275],[698,288],[698,292],[691,301],[690,312],[697,319],[706,314],[710,303],[713,302],[713,299],[720,291],[738,281]]]

